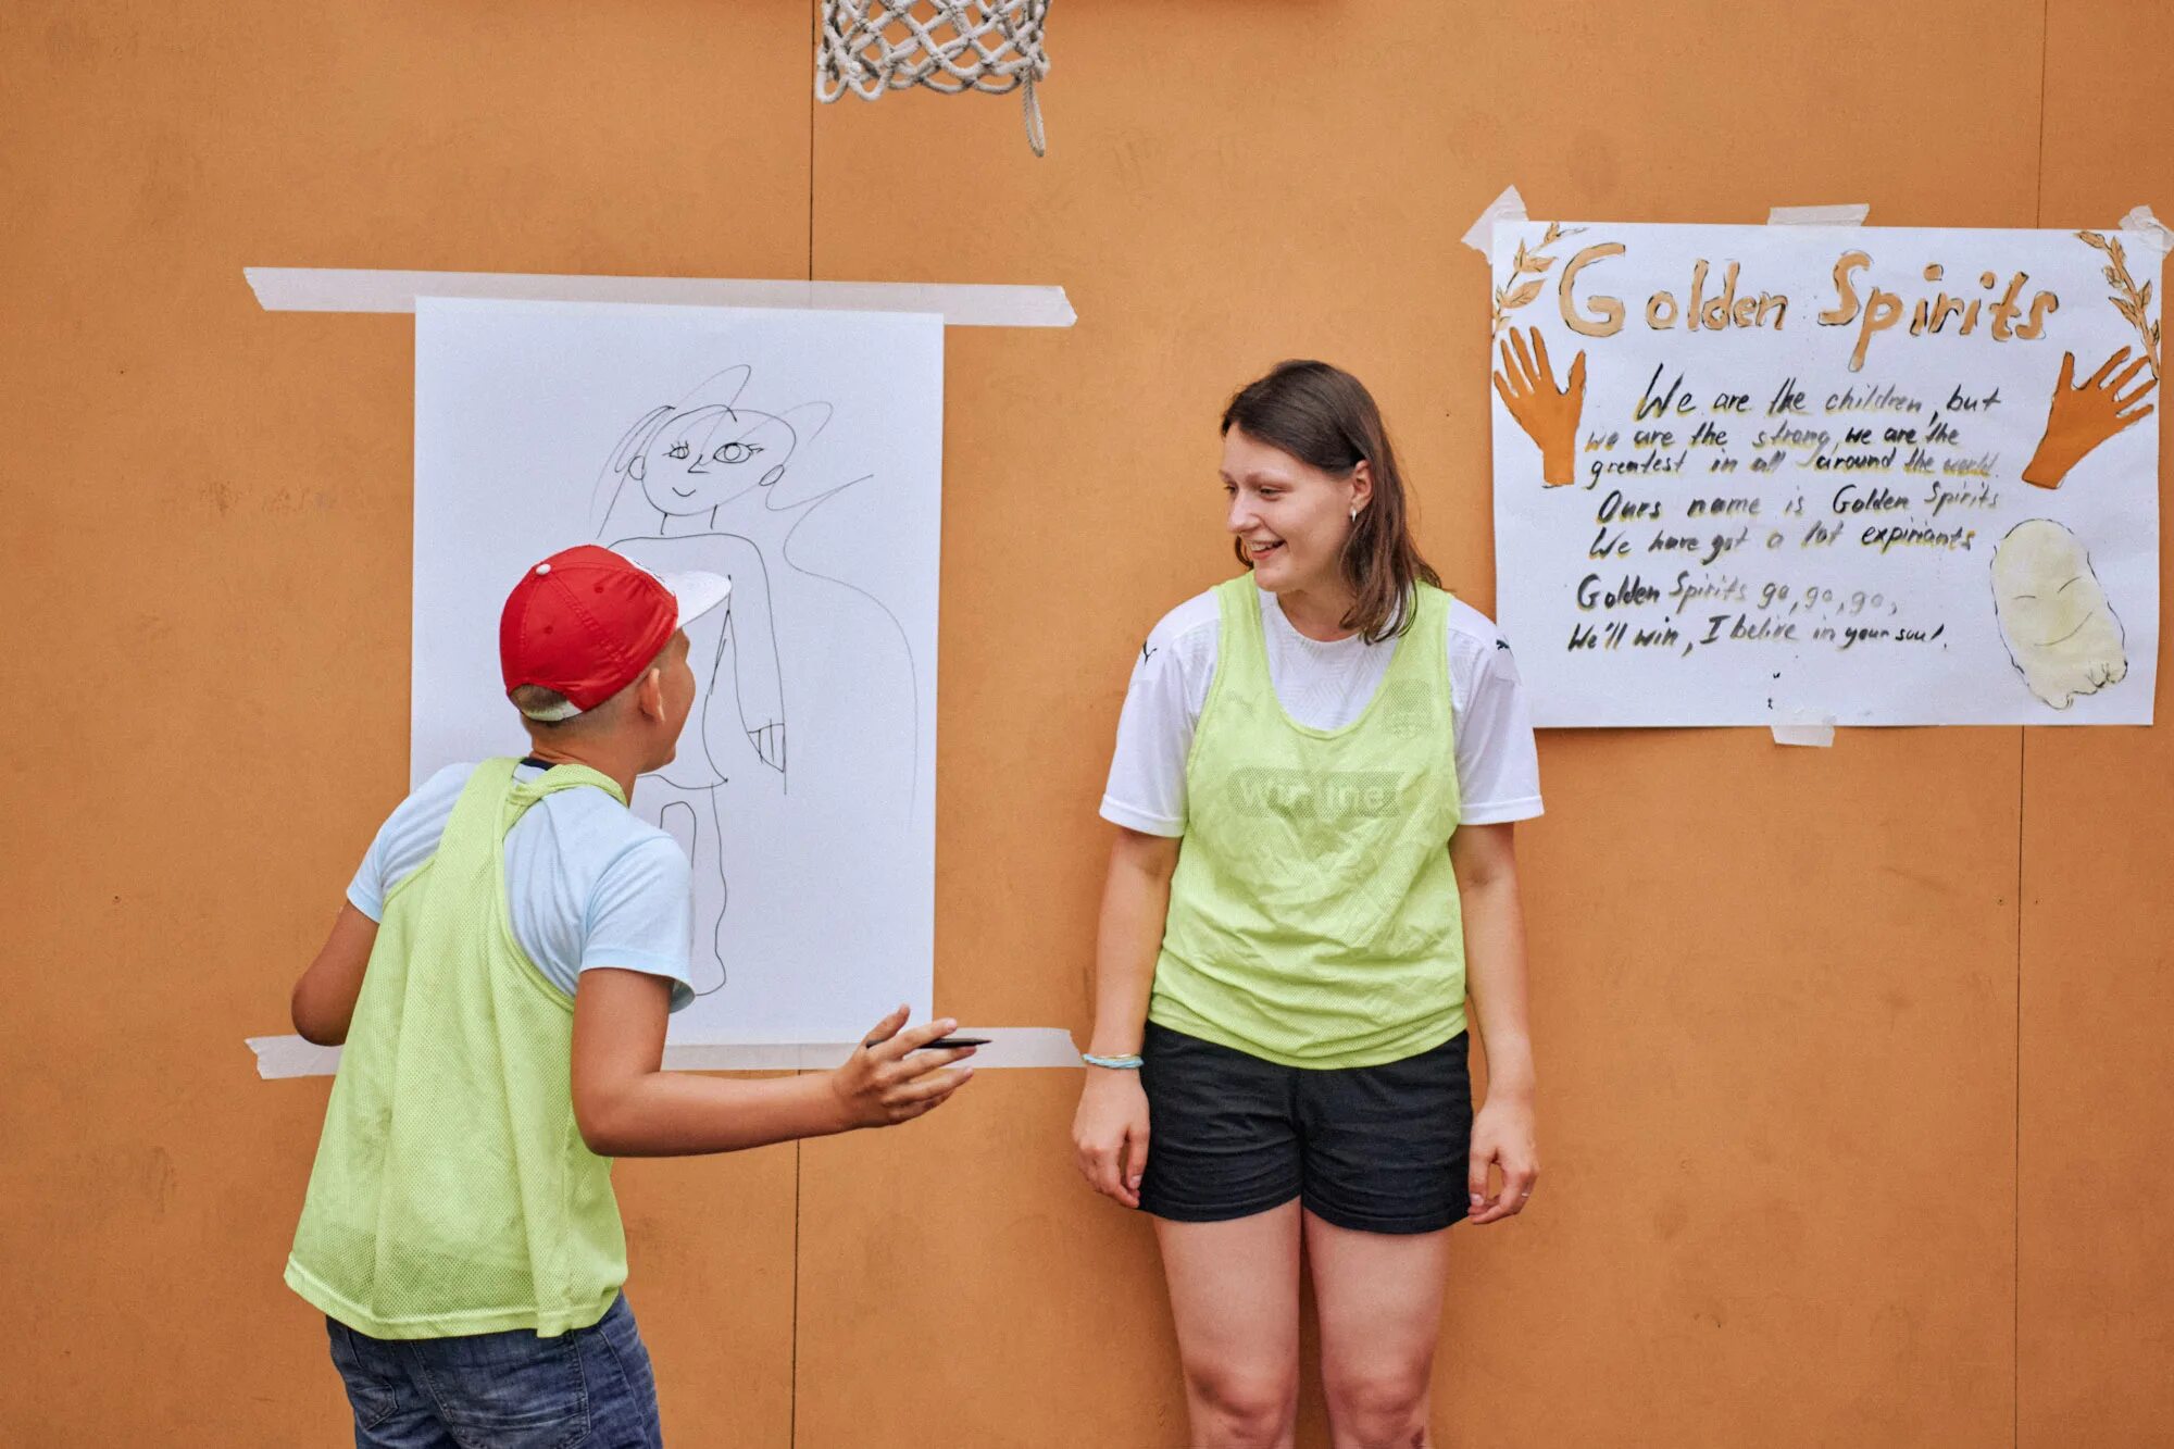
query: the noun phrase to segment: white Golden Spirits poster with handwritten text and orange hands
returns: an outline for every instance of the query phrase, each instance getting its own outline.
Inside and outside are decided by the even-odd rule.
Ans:
[[[1535,722],[2148,725],[2159,265],[2122,231],[1498,226]]]

